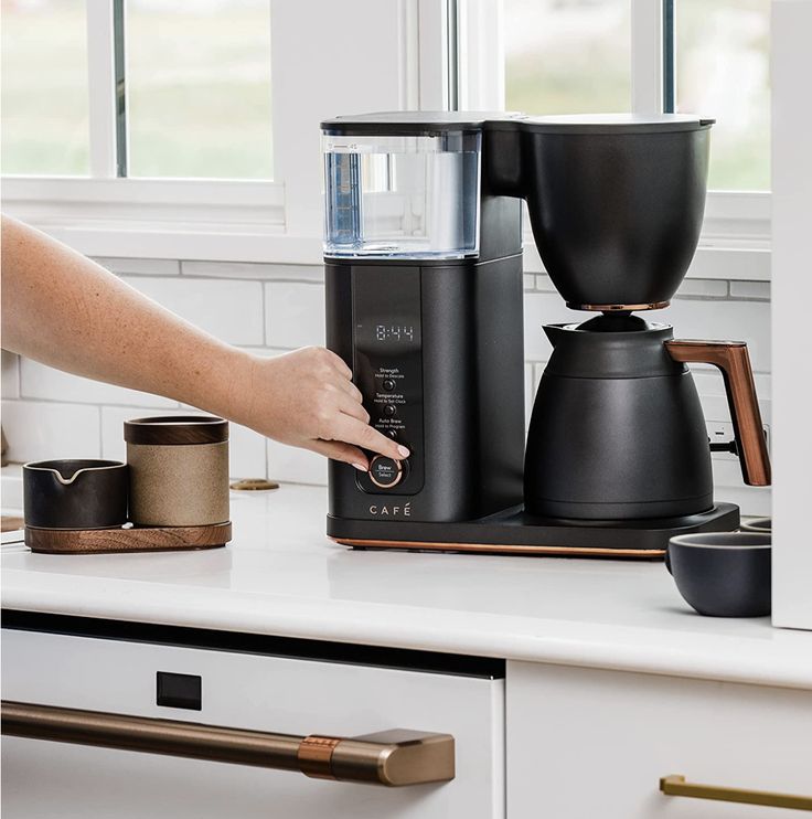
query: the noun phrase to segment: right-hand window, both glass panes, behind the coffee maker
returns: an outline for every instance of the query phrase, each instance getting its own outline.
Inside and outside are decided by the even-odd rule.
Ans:
[[[503,0],[505,103],[535,114],[633,110],[652,66],[634,53],[662,39],[660,109],[716,118],[708,185],[769,190],[770,0]],[[638,10],[635,10],[635,7]],[[647,8],[648,7],[648,8]],[[654,20],[634,26],[632,13]],[[643,21],[645,23],[645,21]],[[673,24],[672,24],[673,22]]]

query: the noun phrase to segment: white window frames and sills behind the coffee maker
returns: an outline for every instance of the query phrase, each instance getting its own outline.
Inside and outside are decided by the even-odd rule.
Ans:
[[[344,49],[344,76],[370,77],[353,87],[346,110],[504,107],[502,0],[319,3],[318,26],[312,8],[317,0],[268,0],[277,179],[119,178],[114,2],[85,2],[90,177],[3,177],[3,208],[88,255],[320,264],[321,171],[313,142],[304,143],[301,127],[309,123],[316,128],[320,116],[348,105],[319,82],[335,71],[334,63],[329,64],[330,38],[342,20],[375,17],[376,31],[386,31],[389,41],[364,42],[367,49],[378,49],[377,57],[388,61],[392,74],[386,84],[376,79],[368,72],[367,50]],[[631,0],[635,113],[663,106],[666,2]],[[308,49],[301,47],[302,38]],[[313,60],[320,54],[325,55],[323,64]],[[291,75],[300,78],[301,88],[285,82]],[[770,203],[767,192],[710,191],[688,276],[769,280]],[[525,242],[525,269],[543,270],[532,241]]]

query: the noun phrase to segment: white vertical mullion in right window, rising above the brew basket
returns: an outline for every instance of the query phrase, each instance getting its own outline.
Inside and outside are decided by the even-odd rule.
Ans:
[[[664,0],[631,0],[631,109],[634,114],[663,110]]]

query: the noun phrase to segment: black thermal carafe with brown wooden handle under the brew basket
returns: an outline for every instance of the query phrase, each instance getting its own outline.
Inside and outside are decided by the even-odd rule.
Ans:
[[[769,483],[744,342],[674,341],[669,325],[629,315],[544,330],[554,349],[527,435],[528,512],[611,521],[709,510],[710,447],[686,362],[722,370],[745,482]]]

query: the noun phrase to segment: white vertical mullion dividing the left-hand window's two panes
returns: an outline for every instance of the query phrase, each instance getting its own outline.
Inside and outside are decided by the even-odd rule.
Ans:
[[[116,176],[116,82],[113,3],[87,2],[87,88],[90,176]]]

